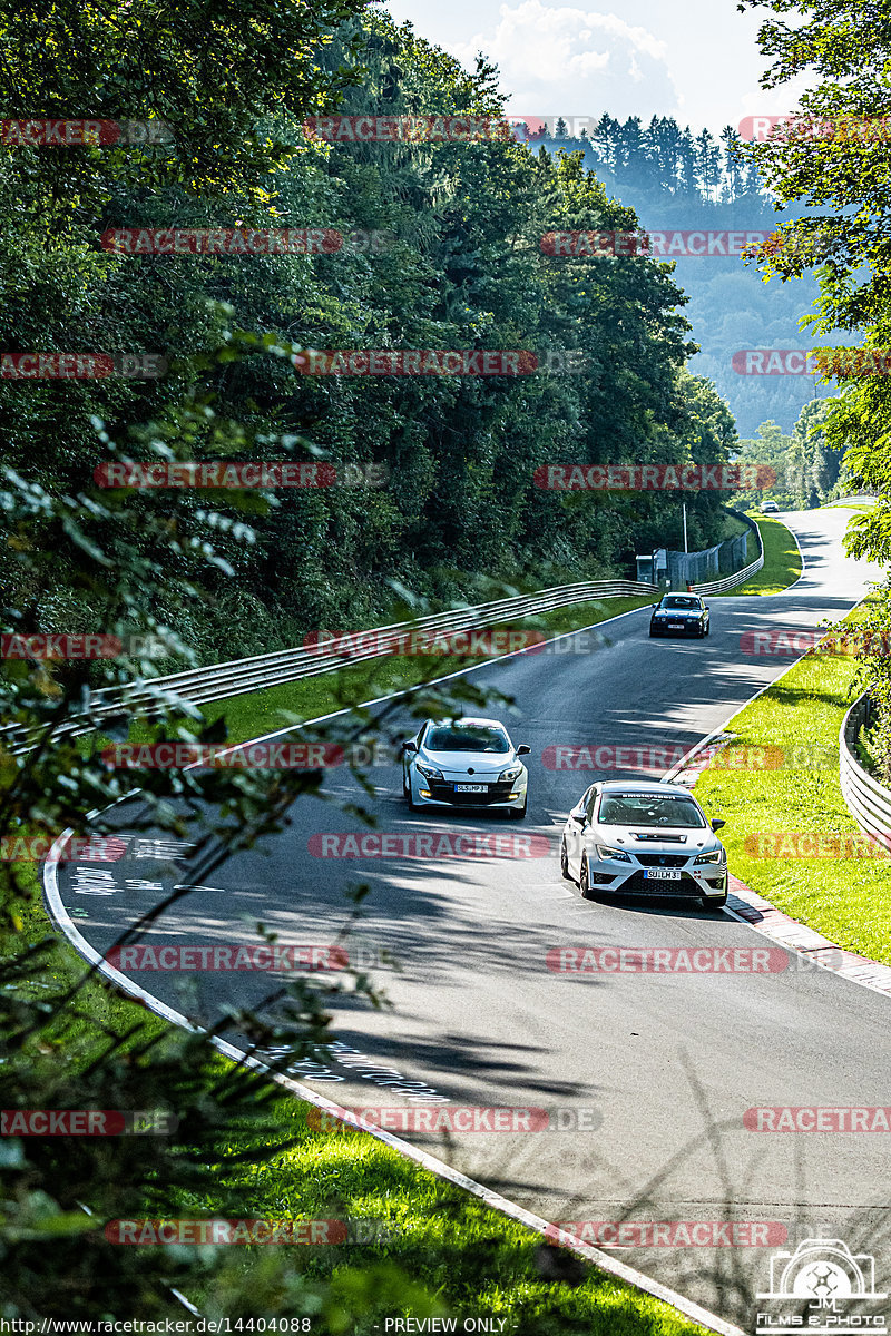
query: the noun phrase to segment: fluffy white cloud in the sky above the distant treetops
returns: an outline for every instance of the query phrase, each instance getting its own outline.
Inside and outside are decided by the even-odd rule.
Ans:
[[[465,65],[477,51],[498,65],[514,114],[649,119],[681,106],[667,44],[614,13],[541,0],[502,4],[493,31],[452,49]]]

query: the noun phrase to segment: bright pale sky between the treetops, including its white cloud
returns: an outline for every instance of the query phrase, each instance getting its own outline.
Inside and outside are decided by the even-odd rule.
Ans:
[[[501,71],[509,112],[675,116],[719,134],[743,116],[792,111],[799,86],[764,92],[756,45],[768,11],[736,0],[385,0],[397,23],[473,65]]]

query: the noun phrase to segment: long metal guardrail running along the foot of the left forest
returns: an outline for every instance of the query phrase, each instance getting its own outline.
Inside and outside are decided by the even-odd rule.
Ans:
[[[335,672],[349,664],[379,659],[398,649],[399,641],[405,641],[405,637],[409,636],[426,639],[485,631],[517,617],[534,616],[574,603],[649,593],[659,593],[659,587],[637,580],[584,580],[580,584],[553,585],[533,595],[497,599],[492,603],[454,608],[450,612],[430,613],[413,621],[397,621],[389,627],[350,632],[355,648],[349,651],[338,651],[335,647],[339,637],[335,637],[333,640],[334,648],[315,645],[282,649],[269,655],[255,655],[251,659],[191,668],[167,677],[146,677],[126,687],[103,687],[92,693],[92,708],[72,715],[61,723],[55,729],[53,737],[79,737],[94,732],[103,719],[126,712],[139,712],[152,717],[162,715],[171,704],[175,705],[182,700],[203,705],[211,700],[239,696],[242,692],[259,691],[263,687],[278,687],[315,677],[319,673]],[[36,735],[35,731],[24,733],[15,724],[0,728],[0,737],[9,739],[8,745],[13,754],[27,749]]]

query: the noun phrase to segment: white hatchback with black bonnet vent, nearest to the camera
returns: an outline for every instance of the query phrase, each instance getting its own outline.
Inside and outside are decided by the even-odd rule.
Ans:
[[[696,896],[727,904],[727,850],[692,794],[675,784],[592,784],[570,811],[560,870],[581,894]]]

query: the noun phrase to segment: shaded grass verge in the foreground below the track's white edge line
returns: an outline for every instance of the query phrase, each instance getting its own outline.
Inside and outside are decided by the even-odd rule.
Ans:
[[[693,1336],[699,1324],[676,1309],[608,1273],[584,1264],[570,1284],[542,1275],[536,1261],[540,1234],[486,1206],[480,1198],[448,1184],[426,1169],[402,1158],[373,1137],[353,1132],[321,1132],[307,1128],[309,1106],[282,1100],[275,1106],[282,1140],[295,1144],[279,1153],[262,1173],[243,1172],[220,1180],[235,1190],[248,1217],[370,1221],[389,1238],[367,1245],[301,1249],[307,1276],[331,1276],[337,1268],[357,1263],[375,1267],[377,1293],[371,1308],[345,1329],[350,1336],[373,1336],[382,1319],[406,1312],[394,1308],[387,1295],[386,1267],[394,1263],[435,1296],[433,1305],[418,1304],[415,1316],[506,1319],[505,1331],[524,1333],[589,1332],[592,1336]],[[238,1133],[230,1145],[244,1153],[262,1149],[250,1136]],[[210,1214],[214,1202],[183,1198],[183,1214]],[[266,1248],[266,1252],[270,1249]],[[254,1252],[254,1249],[248,1249]],[[345,1256],[346,1255],[346,1256]],[[350,1256],[351,1255],[351,1256]],[[628,1255],[622,1255],[627,1260]],[[632,1259],[633,1264],[633,1259]],[[212,1285],[188,1296],[212,1316]]]

